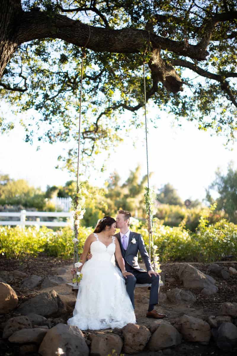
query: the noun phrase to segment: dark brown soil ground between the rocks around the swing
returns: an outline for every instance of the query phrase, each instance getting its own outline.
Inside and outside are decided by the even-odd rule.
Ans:
[[[237,262],[217,262],[219,265],[224,267],[226,270],[229,267],[234,267],[237,269]],[[190,265],[198,268],[201,272],[207,273],[209,264],[204,263],[192,263]],[[160,292],[166,293],[168,290],[173,288],[183,288],[182,283],[178,278],[178,269],[181,263],[166,263],[161,266],[162,278],[165,280],[164,287],[161,287]],[[21,271],[28,275],[36,274],[37,276],[45,277],[52,276],[55,274],[55,268],[64,267],[66,268],[66,274],[61,275],[66,278],[68,282],[71,282],[70,269],[72,268],[72,260],[60,260],[58,258],[47,257],[40,255],[37,258],[26,258],[24,261],[7,259],[5,256],[0,256],[0,271]],[[216,285],[218,287],[218,292],[214,295],[203,296],[200,294],[200,290],[193,290],[192,293],[196,295],[196,302],[190,305],[176,305],[171,302],[160,303],[156,306],[156,310],[159,313],[167,314],[168,317],[165,319],[171,324],[175,323],[175,319],[188,314],[197,318],[206,320],[210,315],[219,315],[219,308],[223,302],[237,302],[237,275],[232,275],[227,280],[212,276],[216,279]],[[67,284],[61,284],[60,286],[50,287],[47,289],[41,289],[36,287],[33,290],[28,290],[26,288],[21,288],[22,278],[15,278],[9,282],[11,287],[15,290],[18,295],[19,303],[25,302],[27,299],[34,297],[35,295],[45,292],[47,290],[54,289],[63,300],[66,306],[66,313],[62,315],[62,321],[66,323],[68,318],[72,316],[72,311],[74,309],[76,301],[76,292],[72,291],[72,288]],[[136,320],[139,325],[145,325],[149,327],[154,319],[146,318],[147,306],[149,303],[149,290],[146,287],[135,289],[135,314]],[[7,315],[0,315],[0,331],[4,327],[4,323],[7,319],[14,316],[14,311]],[[111,330],[103,330],[102,333],[111,333]],[[115,331],[116,332],[116,331]],[[96,331],[85,331],[85,337],[88,334],[96,333]],[[118,331],[119,333],[119,331]],[[1,335],[0,335],[1,336]],[[17,346],[13,346],[9,342],[6,342],[0,338],[0,355],[4,356],[18,356]],[[214,341],[211,340],[208,346],[203,346],[197,343],[190,343],[182,341],[182,344],[173,348],[166,349],[157,352],[144,351],[140,354],[135,354],[139,356],[155,356],[155,355],[179,355],[179,356],[221,356],[221,355],[236,355],[237,347],[232,351],[224,352],[219,350]],[[32,353],[31,356],[36,356],[39,354]],[[124,354],[123,354],[124,355]]]

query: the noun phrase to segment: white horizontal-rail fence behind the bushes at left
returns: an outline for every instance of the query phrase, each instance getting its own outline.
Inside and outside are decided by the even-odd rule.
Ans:
[[[19,213],[0,213],[0,218],[1,216],[11,216],[11,217],[16,217],[20,218],[20,220],[0,220],[0,225],[21,225],[25,227],[25,225],[34,225],[34,226],[68,226],[70,225],[72,227],[73,224],[73,211],[69,212],[45,212],[45,211],[26,211],[26,210],[21,210]],[[27,221],[27,216],[36,216],[35,221]],[[40,217],[53,217],[53,218],[68,218],[67,222],[64,221],[41,221]]]

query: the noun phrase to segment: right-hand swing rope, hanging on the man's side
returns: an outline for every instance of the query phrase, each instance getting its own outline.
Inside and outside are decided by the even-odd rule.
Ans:
[[[149,156],[148,156],[148,140],[147,140],[147,116],[146,116],[146,78],[145,78],[145,60],[143,61],[143,84],[144,84],[144,105],[145,105],[145,134],[146,134],[146,167],[147,167],[147,194],[150,194],[149,187]],[[151,245],[152,245],[152,255],[153,255],[153,268],[156,271],[155,264],[155,253],[154,253],[154,244],[153,244],[153,235],[152,235],[152,218],[151,218],[151,205],[149,199],[149,209],[147,216],[147,225],[148,225],[148,235],[149,235],[149,257],[151,260]]]

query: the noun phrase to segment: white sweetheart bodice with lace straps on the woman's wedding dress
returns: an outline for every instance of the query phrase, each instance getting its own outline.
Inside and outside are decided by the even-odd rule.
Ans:
[[[91,253],[92,259],[94,260],[104,260],[104,261],[111,261],[112,256],[115,252],[115,237],[112,236],[112,242],[108,246],[104,245],[103,242],[99,241],[98,235],[95,234],[96,241],[91,243]]]

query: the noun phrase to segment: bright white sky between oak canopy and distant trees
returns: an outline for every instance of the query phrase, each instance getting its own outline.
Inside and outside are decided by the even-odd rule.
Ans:
[[[154,110],[154,109],[152,109]],[[154,114],[148,112],[148,116]],[[157,114],[157,112],[156,112]],[[149,157],[150,172],[154,172],[151,185],[161,187],[171,183],[182,199],[205,197],[205,188],[214,180],[215,170],[221,167],[226,172],[231,160],[237,166],[237,143],[233,150],[226,149],[225,139],[211,137],[209,132],[199,131],[194,122],[182,121],[181,128],[172,117],[161,113],[157,129],[150,126]],[[67,171],[55,169],[57,157],[67,148],[66,143],[43,143],[36,151],[38,142],[30,145],[24,142],[24,131],[20,125],[9,135],[0,136],[0,172],[9,174],[13,179],[26,179],[31,185],[45,190],[48,185],[64,185],[69,179],[75,179]],[[133,143],[136,143],[134,148]],[[132,130],[124,137],[112,154],[107,170],[92,172],[87,177],[91,184],[102,186],[116,169],[122,183],[138,164],[142,166],[142,175],[146,174],[146,149],[144,129]],[[98,156],[95,167],[99,170],[107,153]]]

